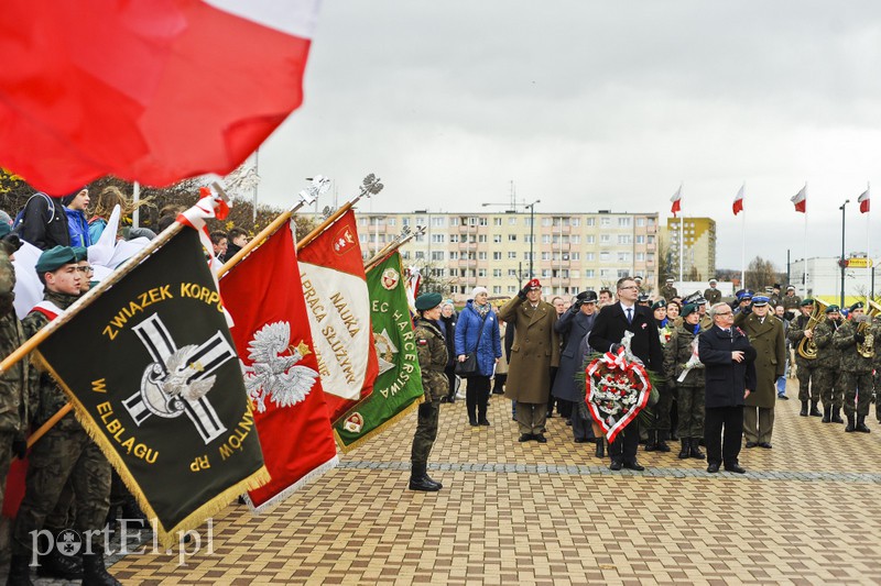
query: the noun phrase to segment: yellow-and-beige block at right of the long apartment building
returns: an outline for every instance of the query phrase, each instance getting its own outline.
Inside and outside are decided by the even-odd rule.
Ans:
[[[662,250],[674,279],[679,278],[679,225],[683,225],[683,278],[708,280],[716,276],[716,221],[710,218],[668,218],[662,230]],[[666,278],[667,275],[661,275]]]

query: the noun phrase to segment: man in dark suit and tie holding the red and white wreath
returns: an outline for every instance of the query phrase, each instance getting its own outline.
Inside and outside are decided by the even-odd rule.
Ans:
[[[642,361],[645,368],[660,373],[664,354],[652,311],[637,305],[640,291],[637,281],[631,277],[618,279],[617,289],[618,302],[602,308],[599,312],[587,340],[588,344],[597,352],[613,352],[621,344],[624,332],[632,332],[630,350],[633,355]],[[639,443],[639,419],[634,418],[609,445],[611,458],[609,468],[645,469],[637,462]]]

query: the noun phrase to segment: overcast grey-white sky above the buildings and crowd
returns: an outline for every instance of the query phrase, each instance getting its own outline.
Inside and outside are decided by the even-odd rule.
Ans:
[[[341,203],[373,172],[368,211],[486,211],[513,180],[536,211],[665,222],[683,183],[686,215],[717,221],[717,265],[739,268],[746,181],[747,257],[785,270],[786,248],[805,253],[805,181],[807,255],[840,254],[847,198],[848,252],[866,250],[879,71],[877,0],[329,0],[305,102],[260,150],[260,199],[291,204],[323,174]]]

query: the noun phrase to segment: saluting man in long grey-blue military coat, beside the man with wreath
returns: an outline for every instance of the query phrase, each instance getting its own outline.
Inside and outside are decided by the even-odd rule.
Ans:
[[[559,369],[554,378],[551,394],[561,401],[574,403],[572,409],[572,432],[576,443],[585,443],[594,438],[590,429],[590,416],[584,403],[584,391],[579,388],[581,383],[575,376],[581,371],[581,353],[579,346],[585,335],[590,332],[596,320],[597,294],[594,291],[579,292],[575,303],[567,309],[554,324],[554,330],[563,336],[566,335],[566,347],[559,356]]]

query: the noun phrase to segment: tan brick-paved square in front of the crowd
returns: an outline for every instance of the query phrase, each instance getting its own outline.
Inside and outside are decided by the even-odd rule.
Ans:
[[[797,394],[790,382],[790,396]],[[273,511],[230,506],[214,554],[128,555],[126,584],[879,584],[881,425],[871,434],[779,401],[772,450],[749,473],[640,452],[612,473],[558,417],[547,444],[518,443],[510,401],[492,427],[444,405],[429,474],[406,489],[415,413]]]

